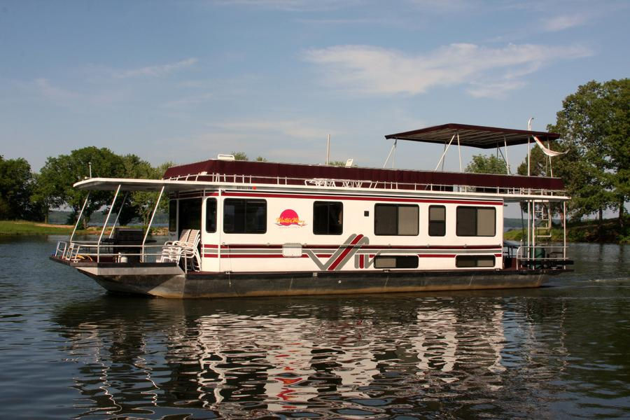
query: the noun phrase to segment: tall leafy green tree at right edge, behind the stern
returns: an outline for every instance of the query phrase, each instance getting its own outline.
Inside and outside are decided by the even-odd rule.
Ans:
[[[630,79],[595,80],[568,95],[556,113],[559,142],[570,158],[559,169],[573,197],[576,216],[617,208],[619,226],[624,223],[624,204],[630,200]]]

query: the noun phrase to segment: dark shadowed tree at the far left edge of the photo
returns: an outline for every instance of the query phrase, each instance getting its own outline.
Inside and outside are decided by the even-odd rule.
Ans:
[[[31,201],[34,185],[29,162],[0,156],[0,219],[40,218],[41,209]]]

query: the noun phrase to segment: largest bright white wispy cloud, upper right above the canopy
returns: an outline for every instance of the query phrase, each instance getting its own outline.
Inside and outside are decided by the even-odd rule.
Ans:
[[[587,57],[579,45],[549,47],[514,45],[488,48],[455,43],[432,52],[409,55],[369,45],[337,45],[305,52],[304,59],[321,67],[327,83],[361,94],[421,94],[431,87],[512,80],[560,59]]]

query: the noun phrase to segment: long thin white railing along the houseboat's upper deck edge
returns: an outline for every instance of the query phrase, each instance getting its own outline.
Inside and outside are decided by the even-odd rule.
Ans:
[[[172,181],[205,181],[211,183],[228,184],[265,184],[271,186],[313,186],[318,188],[333,189],[379,189],[379,190],[405,190],[405,191],[440,191],[456,193],[484,193],[496,195],[524,195],[524,196],[545,196],[545,197],[565,197],[566,190],[552,190],[549,188],[524,188],[505,186],[475,186],[463,184],[444,183],[408,183],[398,181],[371,181],[357,179],[332,179],[332,178],[304,178],[290,176],[262,176],[246,174],[220,174],[220,173],[200,173],[173,176]]]

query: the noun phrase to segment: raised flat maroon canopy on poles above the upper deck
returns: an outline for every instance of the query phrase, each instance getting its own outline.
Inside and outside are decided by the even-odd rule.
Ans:
[[[459,134],[459,144],[461,146],[472,146],[477,148],[495,148],[514,146],[516,144],[526,144],[532,141],[535,136],[540,141],[555,140],[560,138],[560,134],[549,132],[534,132],[529,130],[514,130],[511,128],[484,127],[483,125],[466,124],[442,124],[434,127],[426,127],[421,130],[389,134],[386,139],[399,139],[411,141],[423,141],[425,143],[448,143],[454,134]],[[454,139],[454,144],[457,139]]]

